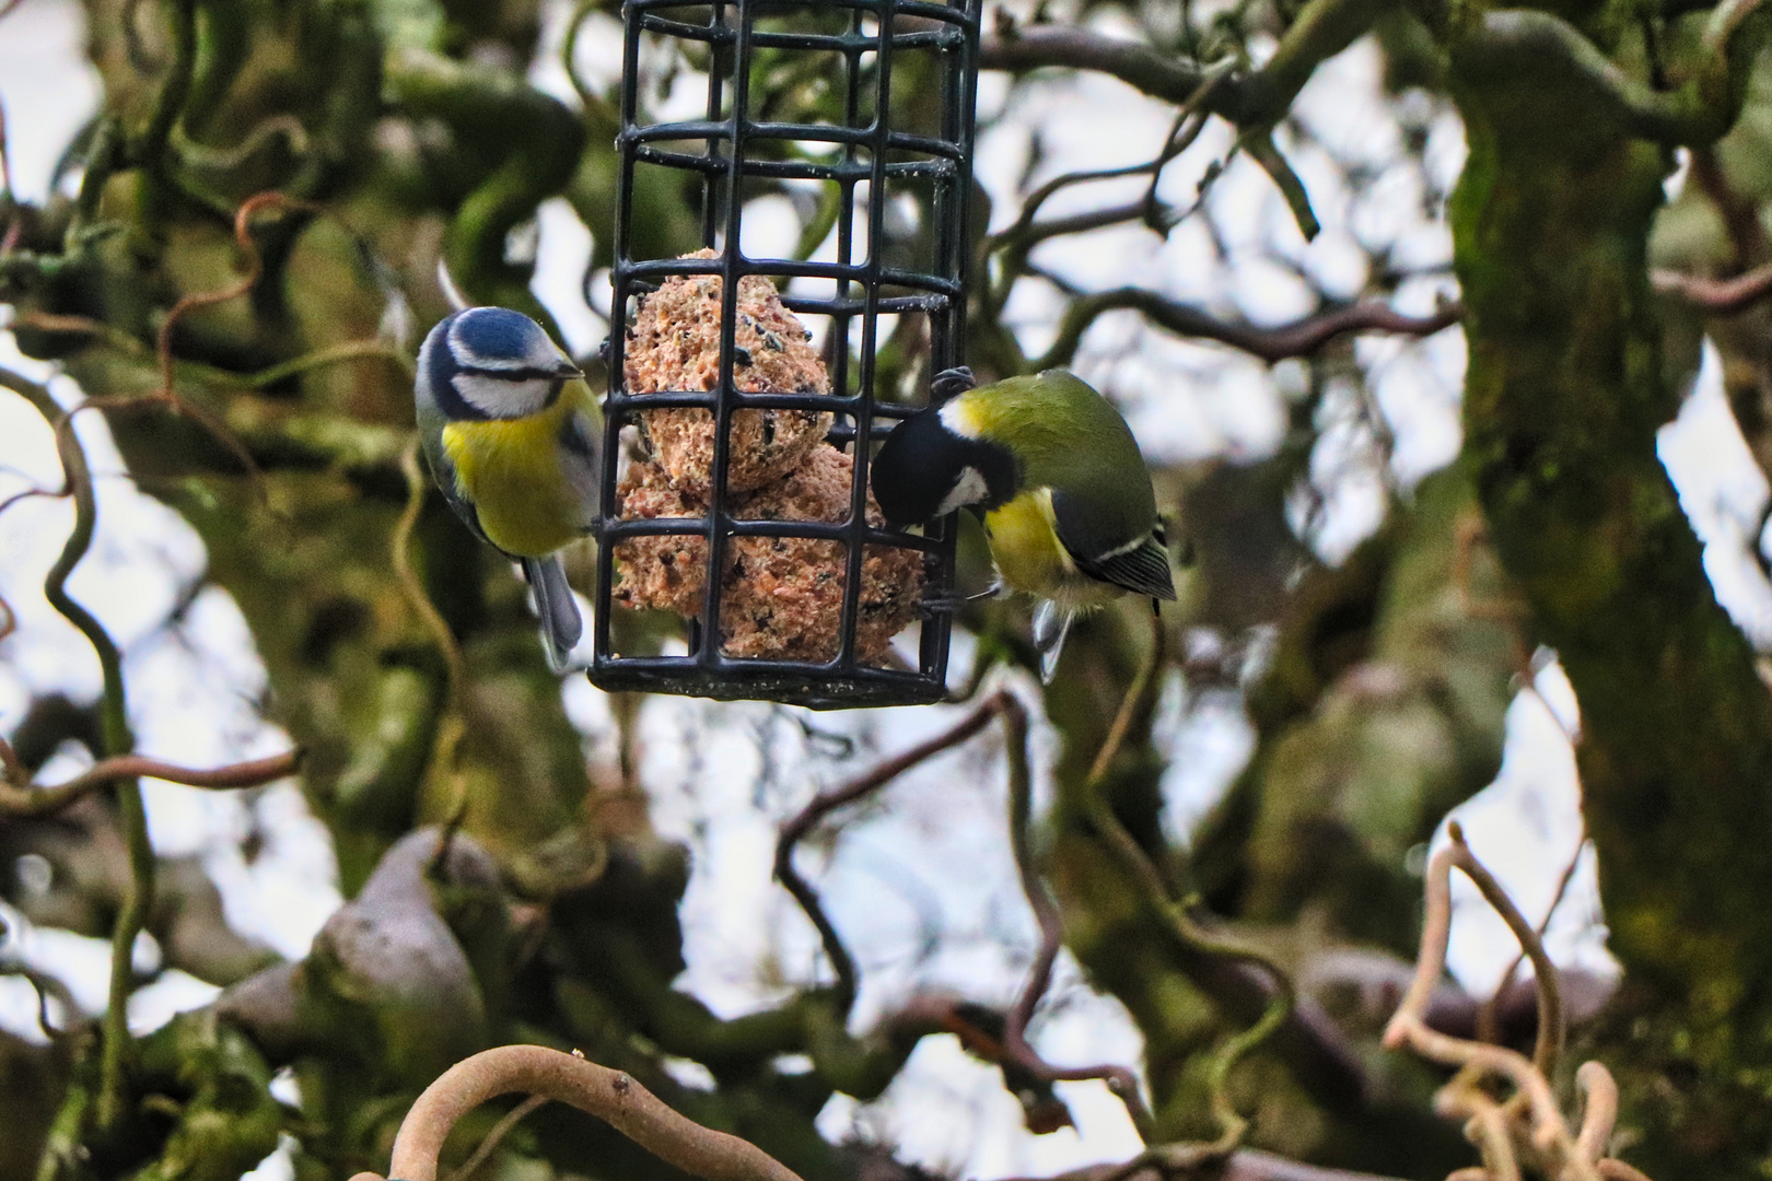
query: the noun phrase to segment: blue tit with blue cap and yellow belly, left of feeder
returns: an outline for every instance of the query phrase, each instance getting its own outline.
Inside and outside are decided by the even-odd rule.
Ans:
[[[418,437],[450,508],[523,563],[548,668],[585,627],[556,551],[590,533],[602,492],[601,414],[578,367],[540,324],[464,308],[418,349]]]

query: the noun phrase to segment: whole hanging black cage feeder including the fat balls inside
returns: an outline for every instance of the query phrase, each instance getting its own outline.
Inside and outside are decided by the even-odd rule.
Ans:
[[[601,689],[944,696],[953,521],[888,529],[868,457],[960,363],[980,2],[624,5]]]

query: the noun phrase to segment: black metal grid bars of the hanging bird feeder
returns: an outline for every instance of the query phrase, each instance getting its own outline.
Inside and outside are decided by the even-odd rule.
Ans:
[[[925,593],[946,597],[953,586],[953,521],[923,535],[872,528],[867,522],[868,455],[893,420],[916,405],[877,400],[875,359],[881,317],[927,317],[927,375],[959,365],[966,283],[966,207],[971,188],[978,11],[982,0],[627,0],[622,74],[620,181],[611,269],[610,397],[606,455],[622,448],[622,428],[654,409],[711,411],[712,464],[705,515],[620,519],[617,464],[604,475],[604,517],[599,522],[595,588],[595,655],[590,680],[608,691],[672,692],[707,698],[762,698],[845,708],[913,705],[944,696],[950,614],[934,611],[920,621],[918,664],[865,662],[856,652],[863,554],[881,547],[923,554]],[[675,60],[705,69],[702,119],[643,122],[640,113],[641,51],[677,53]],[[801,55],[820,78],[838,87],[842,119],[780,122],[753,113],[764,97],[757,71],[762,60],[780,69]],[[918,58],[916,55],[927,55]],[[650,58],[656,60],[656,58]],[[916,71],[909,69],[918,62]],[[780,76],[780,74],[776,74]],[[893,94],[893,83],[913,94]],[[895,103],[918,112],[918,133],[893,127]],[[939,112],[929,104],[937,104]],[[936,131],[927,133],[930,127]],[[696,193],[705,259],[634,257],[636,221],[647,209],[636,197],[636,168],[663,168]],[[684,177],[684,174],[689,174]],[[835,260],[748,257],[742,221],[748,200],[783,184],[815,181],[835,186]],[[891,195],[916,186],[930,220],[932,248],[913,266],[891,266],[884,234]],[[647,243],[641,243],[645,251]],[[932,257],[929,257],[932,255]],[[920,266],[916,266],[920,264]],[[714,390],[631,391],[626,352],[641,297],[672,276],[719,276],[719,375]],[[750,363],[735,347],[737,299],[744,276],[766,276],[781,289],[781,303],[828,324],[824,359],[829,393],[742,391],[734,367]],[[808,294],[806,280],[822,280]],[[810,338],[810,333],[808,333]],[[739,519],[727,489],[732,466],[732,418],[741,409],[833,413],[829,443],[852,455],[847,521],[806,522]],[[820,444],[826,446],[826,444]],[[705,538],[705,593],[688,625],[686,655],[624,655],[611,637],[613,588],[622,577],[617,549],[624,538]],[[824,538],[842,544],[843,593],[835,655],[820,660],[735,657],[723,652],[721,598],[728,547],[735,538]],[[774,542],[780,549],[780,542]]]

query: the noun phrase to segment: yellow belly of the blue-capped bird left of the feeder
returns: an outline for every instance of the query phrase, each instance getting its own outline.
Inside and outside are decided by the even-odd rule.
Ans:
[[[560,430],[576,409],[574,398],[560,397],[530,418],[443,427],[455,490],[507,554],[544,558],[585,535],[583,506],[560,467]]]

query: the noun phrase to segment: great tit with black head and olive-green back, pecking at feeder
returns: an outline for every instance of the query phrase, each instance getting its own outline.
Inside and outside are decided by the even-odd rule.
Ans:
[[[1040,675],[1053,680],[1070,621],[1120,595],[1175,598],[1157,496],[1120,413],[1065,370],[973,386],[898,423],[874,457],[874,499],[893,526],[971,508],[998,588],[1026,591]],[[994,588],[996,590],[996,588]]]

